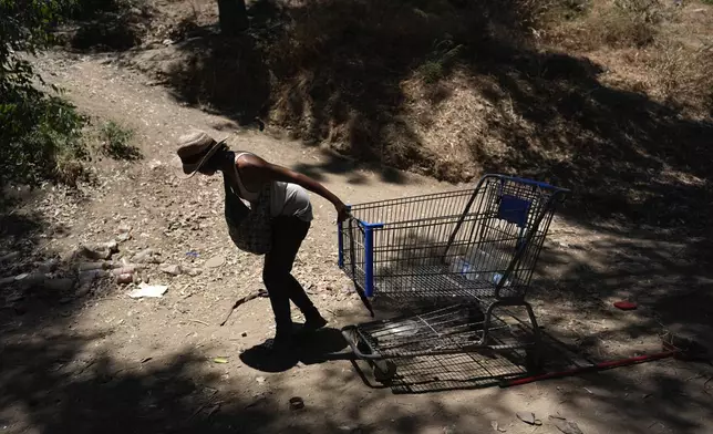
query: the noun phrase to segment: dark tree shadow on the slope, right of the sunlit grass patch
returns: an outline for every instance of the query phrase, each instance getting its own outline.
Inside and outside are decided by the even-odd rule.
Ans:
[[[486,170],[548,179],[572,189],[564,213],[589,224],[618,223],[707,230],[706,143],[713,123],[686,118],[645,95],[607,87],[601,68],[564,54],[500,51],[473,62],[497,83],[489,99],[507,97],[531,128],[500,128],[510,152],[495,155],[473,143]],[[515,126],[515,124],[510,124]],[[533,146],[533,145],[536,146]]]

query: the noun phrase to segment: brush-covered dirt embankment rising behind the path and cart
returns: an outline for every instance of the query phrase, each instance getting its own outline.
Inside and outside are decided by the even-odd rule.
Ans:
[[[244,125],[260,117],[268,131],[359,161],[448,182],[533,176],[576,189],[572,213],[663,227],[693,219],[702,230],[686,204],[711,197],[704,71],[713,42],[681,28],[700,28],[711,9],[632,1],[616,11],[599,2],[256,1],[237,38],[211,23],[215,4],[199,3],[180,19],[173,10],[165,25],[175,40],[124,61],[187,104]],[[613,12],[619,33],[595,33]],[[655,27],[655,43],[628,39],[644,24]],[[600,42],[572,49],[587,35]]]

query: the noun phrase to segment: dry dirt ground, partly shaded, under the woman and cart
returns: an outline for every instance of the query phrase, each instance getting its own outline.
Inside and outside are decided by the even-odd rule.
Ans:
[[[179,178],[179,134],[199,127],[230,135],[234,148],[309,173],[348,203],[454,186],[361,168],[269,132],[239,131],[182,106],[111,58],[52,54],[38,65],[83,112],[132,127],[145,158],[97,162],[96,183],[79,192],[43,187],[6,219],[16,234],[31,218],[39,221],[14,246],[64,258],[80,242],[105,242],[131,228],[115,258],[152,248],[163,262],[202,272],[174,277],[149,266],[144,278],[168,286],[159,299],[132,299],[128,287],[116,285],[61,297],[3,291],[2,433],[559,433],[550,415],[587,434],[713,432],[706,364],[669,359],[500,389],[477,378],[475,362],[433,359],[434,378],[459,381],[434,381],[446,390],[428,392],[427,382],[381,386],[363,363],[324,355],[345,350],[340,327],[368,316],[337,269],[334,213],[320,198],[313,198],[316,220],[296,275],[330,328],[294,360],[266,360],[254,347],[272,333],[267,299],[242,304],[219,326],[238,297],[260,288],[261,264],[227,237],[220,179]],[[663,328],[710,342],[711,300],[707,293],[689,300],[691,290],[710,289],[695,246],[558,218],[534,294],[544,330],[596,360],[659,351]],[[215,257],[225,262],[208,267]],[[620,299],[633,299],[639,310],[613,309]],[[303,399],[303,409],[290,409],[293,396]],[[520,422],[517,412],[535,413],[542,425]]]

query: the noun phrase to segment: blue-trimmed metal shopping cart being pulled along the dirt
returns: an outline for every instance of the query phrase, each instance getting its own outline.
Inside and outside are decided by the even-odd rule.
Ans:
[[[539,329],[525,298],[567,192],[486,175],[475,189],[353,205],[339,224],[339,266],[372,316],[374,297],[403,312],[342,329],[355,355],[373,362],[380,381],[395,373],[390,359],[485,348],[525,349],[537,370]],[[515,307],[529,324],[496,314]]]

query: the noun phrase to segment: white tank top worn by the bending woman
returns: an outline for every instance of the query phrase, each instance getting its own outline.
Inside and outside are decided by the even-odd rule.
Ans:
[[[252,155],[241,153],[235,156],[235,175],[240,189],[240,197],[248,202],[257,200],[259,192],[250,192],[242,184],[240,173],[238,172],[238,158],[242,155]],[[312,204],[309,194],[304,188],[297,184],[273,180],[270,186],[270,214],[277,216],[294,216],[303,221],[312,221]]]

